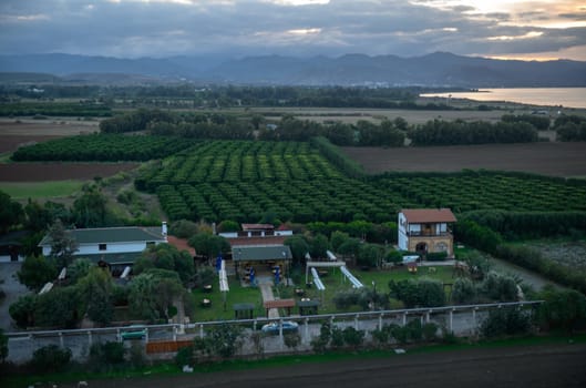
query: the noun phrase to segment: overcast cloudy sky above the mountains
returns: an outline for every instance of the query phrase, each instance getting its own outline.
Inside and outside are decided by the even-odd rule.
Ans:
[[[585,0],[0,0],[0,53],[586,61]]]

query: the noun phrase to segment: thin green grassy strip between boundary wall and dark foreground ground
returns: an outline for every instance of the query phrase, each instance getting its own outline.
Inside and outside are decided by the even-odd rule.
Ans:
[[[566,335],[552,334],[548,336],[527,336],[521,338],[506,338],[497,340],[483,340],[480,343],[458,343],[458,344],[436,344],[418,346],[408,348],[407,355],[398,356],[392,349],[376,349],[363,351],[328,351],[326,354],[310,354],[310,355],[288,355],[269,357],[261,360],[229,360],[215,364],[197,365],[194,368],[194,374],[222,372],[233,370],[250,370],[263,368],[287,367],[299,364],[322,364],[336,363],[341,360],[359,360],[359,359],[377,359],[387,357],[409,357],[409,354],[424,354],[424,353],[449,353],[465,349],[479,348],[506,348],[515,346],[547,346],[547,345],[568,345],[585,344],[586,335],[575,335],[568,337]],[[69,371],[60,374],[47,375],[19,375],[2,377],[3,387],[25,387],[34,385],[40,381],[51,382],[71,382],[80,380],[96,380],[96,379],[115,379],[115,378],[133,378],[144,376],[178,376],[183,375],[179,368],[173,364],[158,364],[152,367],[145,367],[134,370],[117,370],[111,372],[92,374],[83,371]]]

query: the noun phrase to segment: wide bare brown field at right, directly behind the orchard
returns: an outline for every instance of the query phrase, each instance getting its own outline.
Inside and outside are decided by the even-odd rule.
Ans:
[[[586,142],[342,150],[362,164],[369,173],[485,169],[555,176],[586,176]]]

